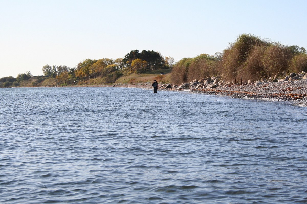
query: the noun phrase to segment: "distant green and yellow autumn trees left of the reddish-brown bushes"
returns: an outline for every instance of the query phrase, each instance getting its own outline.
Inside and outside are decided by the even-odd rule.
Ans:
[[[56,78],[61,85],[72,84],[76,81],[83,82],[95,77],[103,78],[104,83],[113,83],[124,73],[142,73],[145,70],[172,68],[173,57],[163,57],[159,52],[153,50],[131,50],[123,58],[98,60],[85,59],[80,61],[76,67],[70,68],[66,65],[44,65],[42,72],[44,77]],[[18,86],[19,81],[31,79],[32,74],[18,74],[16,78],[3,77],[0,79],[0,87]],[[37,83],[44,80],[39,77]],[[13,84],[14,83],[14,84]],[[33,82],[33,85],[34,82]]]

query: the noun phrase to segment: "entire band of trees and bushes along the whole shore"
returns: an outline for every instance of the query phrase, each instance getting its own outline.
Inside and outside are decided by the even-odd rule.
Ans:
[[[307,71],[307,53],[304,47],[286,46],[251,34],[242,34],[222,52],[183,58],[175,64],[172,57],[163,57],[153,50],[131,50],[116,60],[85,59],[74,68],[45,65],[42,71],[45,77],[55,77],[60,84],[83,82],[95,77],[101,77],[104,83],[113,83],[123,74],[140,74],[162,68],[172,69],[170,80],[175,84],[216,75],[230,82],[241,77],[243,80],[259,80]],[[18,81],[31,77],[30,72],[18,74],[16,78],[3,77],[0,86],[16,85]],[[43,78],[37,82],[41,80]]]

